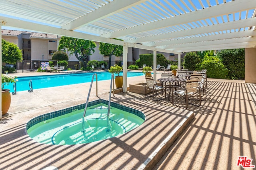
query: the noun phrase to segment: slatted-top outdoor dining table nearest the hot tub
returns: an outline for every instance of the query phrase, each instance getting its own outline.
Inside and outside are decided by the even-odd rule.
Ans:
[[[177,78],[177,77],[166,77],[166,78],[159,78],[158,81],[161,82],[161,84],[169,83],[169,97],[168,100],[170,100],[170,92],[172,86],[184,86],[187,79],[186,78]],[[165,86],[166,88],[166,86]],[[173,94],[172,94],[173,95]]]

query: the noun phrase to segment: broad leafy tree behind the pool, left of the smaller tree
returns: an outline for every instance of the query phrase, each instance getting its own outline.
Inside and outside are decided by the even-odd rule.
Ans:
[[[78,59],[78,61],[84,65],[84,68],[86,68],[89,56],[94,53],[95,47],[96,43],[94,41],[63,36],[60,39],[58,50],[68,49],[70,55],[74,54],[76,59]]]

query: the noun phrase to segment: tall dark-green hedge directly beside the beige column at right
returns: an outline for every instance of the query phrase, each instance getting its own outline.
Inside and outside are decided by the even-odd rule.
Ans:
[[[217,55],[228,68],[228,79],[244,80],[244,49],[221,50]]]

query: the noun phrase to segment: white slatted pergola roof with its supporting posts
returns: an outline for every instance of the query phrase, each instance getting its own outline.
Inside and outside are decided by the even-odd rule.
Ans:
[[[127,47],[154,51],[154,68],[156,51],[254,48],[255,8],[256,0],[0,0],[0,22],[123,45],[126,92]]]

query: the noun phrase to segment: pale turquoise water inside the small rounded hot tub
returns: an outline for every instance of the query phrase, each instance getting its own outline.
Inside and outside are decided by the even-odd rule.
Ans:
[[[86,110],[85,131],[82,132],[84,109],[41,121],[27,129],[37,142],[52,145],[75,145],[108,139],[126,133],[144,122],[141,117],[110,107],[110,128],[107,127],[108,105],[96,104]]]

